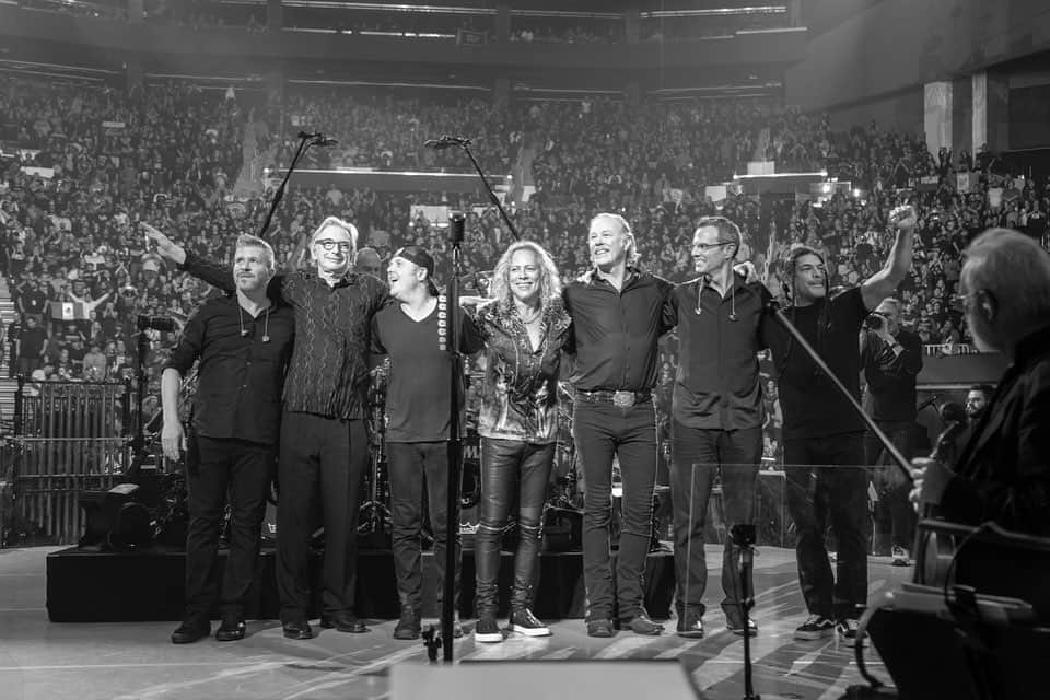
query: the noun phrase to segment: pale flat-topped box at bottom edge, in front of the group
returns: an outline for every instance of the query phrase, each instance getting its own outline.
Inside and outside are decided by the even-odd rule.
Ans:
[[[670,661],[464,661],[456,665],[397,664],[392,700],[695,700],[685,666]]]

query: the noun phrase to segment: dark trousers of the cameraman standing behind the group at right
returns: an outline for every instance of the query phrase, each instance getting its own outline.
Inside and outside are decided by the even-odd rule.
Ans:
[[[914,452],[912,422],[878,421],[878,427],[900,454],[911,460]],[[864,452],[867,464],[874,467],[872,476],[878,493],[878,501],[875,502],[875,532],[890,533],[895,546],[911,549],[918,520],[908,499],[911,483],[900,474],[897,463],[886,453],[883,443],[874,433],[870,432],[864,436]]]

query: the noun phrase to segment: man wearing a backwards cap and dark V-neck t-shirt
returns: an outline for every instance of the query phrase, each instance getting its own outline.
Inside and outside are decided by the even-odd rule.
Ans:
[[[448,494],[448,425],[452,355],[447,349],[448,308],[431,279],[434,259],[423,248],[406,246],[394,254],[387,268],[390,295],[372,318],[372,350],[390,358],[386,388],[386,452],[390,476],[390,520],[394,526],[394,570],[401,617],[395,639],[420,634],[423,576],[420,536],[423,521],[423,487],[434,530],[434,563],[438,565],[439,606],[445,581],[448,526],[459,560],[459,518],[445,509]],[[459,350],[472,354],[481,340],[470,317],[463,319]],[[462,405],[462,404],[460,404]],[[455,591],[459,570],[455,572]],[[458,621],[454,633],[462,637]]]

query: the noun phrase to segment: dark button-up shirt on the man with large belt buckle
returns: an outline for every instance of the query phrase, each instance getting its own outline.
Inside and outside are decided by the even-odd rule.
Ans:
[[[658,277],[628,268],[619,291],[596,271],[563,293],[572,318],[569,375],[582,392],[648,392],[656,385],[660,337],[674,326],[670,292]]]

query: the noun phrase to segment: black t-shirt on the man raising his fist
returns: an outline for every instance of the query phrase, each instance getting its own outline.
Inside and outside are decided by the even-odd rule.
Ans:
[[[830,304],[830,327],[817,326],[825,304]],[[854,287],[830,301],[784,312],[809,345],[831,368],[854,398],[860,399],[861,352],[859,334],[868,311],[861,289]],[[864,423],[829,378],[775,320],[767,323],[763,337],[780,375],[780,405],[784,413],[784,440],[825,438],[863,432]]]

